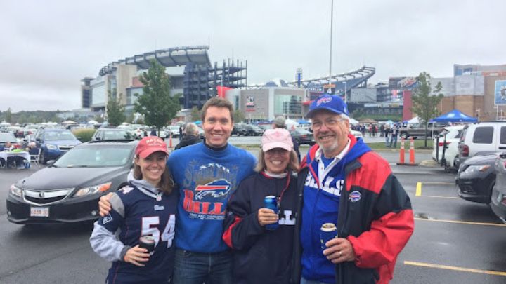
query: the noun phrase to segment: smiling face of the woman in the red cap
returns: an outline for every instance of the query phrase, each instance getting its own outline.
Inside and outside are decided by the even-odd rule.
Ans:
[[[162,174],[165,171],[165,163],[167,162],[167,154],[161,151],[154,152],[145,158],[137,156],[136,165],[141,168],[143,180],[157,187],[162,180]]]

